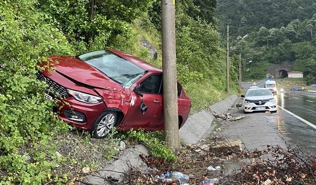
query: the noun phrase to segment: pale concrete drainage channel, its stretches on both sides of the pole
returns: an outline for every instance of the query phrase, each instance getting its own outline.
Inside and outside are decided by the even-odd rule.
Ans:
[[[236,94],[217,102],[209,107],[209,110],[202,110],[190,115],[186,124],[179,130],[180,138],[187,144],[196,144],[199,140],[209,136],[214,125],[211,124],[216,118],[216,114],[223,114],[228,111],[237,101]],[[97,173],[88,175],[80,185],[112,185],[109,177],[113,179],[122,179],[124,172],[128,171],[129,166],[146,169],[146,164],[139,157],[140,154],[148,155],[149,151],[143,145],[136,145],[133,148],[126,149],[112,164],[106,166]]]

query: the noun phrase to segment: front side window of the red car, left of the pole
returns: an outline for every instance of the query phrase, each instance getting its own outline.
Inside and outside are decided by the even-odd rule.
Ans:
[[[150,94],[159,94],[161,86],[161,74],[153,74],[148,76],[140,84],[139,92],[140,93],[150,93]]]

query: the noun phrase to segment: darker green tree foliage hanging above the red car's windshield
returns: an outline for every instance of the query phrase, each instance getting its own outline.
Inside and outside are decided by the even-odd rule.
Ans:
[[[130,37],[132,23],[153,0],[39,0],[52,22],[79,52],[103,49],[116,37]],[[82,47],[86,46],[86,47]]]

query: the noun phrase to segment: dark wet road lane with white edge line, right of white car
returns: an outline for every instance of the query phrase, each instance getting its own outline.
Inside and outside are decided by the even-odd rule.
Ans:
[[[304,122],[279,109],[276,124],[280,135],[289,145],[299,145],[310,152],[316,153],[316,129],[312,127],[316,125],[316,97],[281,93],[277,96],[277,103],[280,108],[306,120]]]

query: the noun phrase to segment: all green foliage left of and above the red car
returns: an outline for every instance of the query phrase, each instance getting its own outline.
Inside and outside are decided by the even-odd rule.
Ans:
[[[5,174],[0,184],[68,181],[66,174],[54,175],[55,165],[62,161],[48,143],[69,126],[52,112],[57,102],[43,99],[45,85],[36,80],[37,63],[52,54],[72,55],[107,45],[120,48],[126,40],[136,45],[129,23],[150,5],[150,0],[0,2],[0,170]],[[117,40],[120,45],[113,44]],[[146,49],[133,51],[148,57]],[[117,152],[106,151],[106,156]]]

